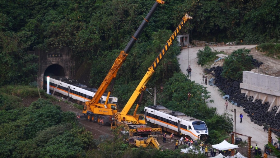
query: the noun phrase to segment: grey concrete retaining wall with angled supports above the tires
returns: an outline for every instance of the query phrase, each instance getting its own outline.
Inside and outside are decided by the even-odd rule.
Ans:
[[[241,93],[253,96],[256,99],[268,101],[270,107],[268,111],[280,105],[280,78],[262,75],[250,71],[243,71],[243,83],[240,83]],[[280,108],[279,108],[280,109]],[[279,112],[279,109],[277,113]]]

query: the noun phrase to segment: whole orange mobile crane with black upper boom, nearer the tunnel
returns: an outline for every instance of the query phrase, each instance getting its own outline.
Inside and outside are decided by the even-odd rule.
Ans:
[[[113,88],[114,84],[114,78],[117,75],[117,72],[123,62],[125,61],[130,49],[138,39],[139,35],[141,34],[142,30],[147,25],[148,21],[150,20],[153,13],[156,11],[156,8],[159,6],[159,4],[164,4],[165,2],[162,0],[156,0],[155,4],[153,5],[150,12],[147,14],[147,16],[142,21],[141,25],[139,26],[138,30],[135,32],[135,34],[130,39],[129,43],[127,44],[126,48],[120,52],[119,56],[116,58],[113,66],[111,67],[109,73],[101,83],[100,87],[96,91],[96,94],[93,96],[93,98],[90,101],[86,102],[86,105],[83,109],[83,114],[86,116],[88,121],[94,121],[98,123],[104,124],[110,124],[112,123],[114,119],[114,114],[117,113],[117,105],[116,104],[109,104],[108,99],[111,93],[111,90]],[[107,87],[109,86],[110,82],[113,80],[112,85],[110,87],[110,90],[108,92],[107,99],[104,104],[99,103],[100,98],[106,91]],[[113,117],[112,117],[113,116]],[[78,118],[81,116],[78,116]]]

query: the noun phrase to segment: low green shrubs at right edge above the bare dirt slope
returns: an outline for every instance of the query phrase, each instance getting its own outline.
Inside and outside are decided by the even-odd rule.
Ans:
[[[278,43],[262,43],[257,46],[257,50],[266,52],[269,57],[280,58],[280,44]]]

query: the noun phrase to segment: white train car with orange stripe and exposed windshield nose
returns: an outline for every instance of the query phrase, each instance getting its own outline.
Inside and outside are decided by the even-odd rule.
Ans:
[[[193,140],[206,141],[208,128],[205,122],[187,116],[184,113],[166,109],[161,105],[145,107],[145,117],[150,123],[163,128],[164,131],[174,132],[177,135],[189,136]]]

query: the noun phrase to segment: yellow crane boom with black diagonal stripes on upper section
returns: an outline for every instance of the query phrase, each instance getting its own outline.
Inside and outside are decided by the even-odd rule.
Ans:
[[[135,100],[137,99],[138,95],[141,94],[142,91],[144,91],[146,89],[146,84],[149,81],[149,79],[152,77],[153,73],[155,72],[155,68],[160,63],[160,61],[162,60],[162,58],[164,57],[164,55],[166,54],[166,52],[168,51],[168,49],[172,45],[172,42],[176,39],[178,33],[181,31],[181,29],[183,28],[185,23],[187,21],[189,21],[189,19],[192,19],[192,17],[189,16],[188,14],[185,14],[185,16],[182,18],[182,21],[181,21],[180,25],[173,32],[170,39],[167,41],[166,45],[164,46],[164,48],[161,50],[161,52],[159,53],[159,55],[157,56],[157,58],[153,62],[152,66],[148,68],[148,71],[146,72],[145,76],[142,78],[139,85],[137,86],[137,88],[135,89],[133,94],[131,95],[127,104],[124,106],[124,109],[120,113],[115,114],[115,119],[116,120],[121,121],[121,120],[124,120],[124,118],[125,118],[125,120],[127,122],[131,122],[133,124],[139,124],[139,123],[143,122],[143,121],[140,121],[137,118],[137,117],[139,117],[139,115],[137,115],[135,117],[136,111],[137,111],[137,108],[138,108],[139,105],[137,105],[133,116],[127,115],[128,111],[132,108],[132,106],[133,106]]]

